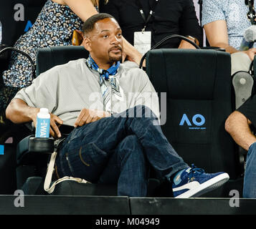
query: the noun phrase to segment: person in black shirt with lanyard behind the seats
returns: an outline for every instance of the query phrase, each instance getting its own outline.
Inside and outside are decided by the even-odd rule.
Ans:
[[[108,4],[100,4],[100,12],[115,17],[131,44],[136,43],[134,33],[144,28],[151,31],[151,47],[171,34],[193,36],[202,44],[202,29],[192,0],[109,0]],[[180,39],[169,39],[161,47],[194,48]]]

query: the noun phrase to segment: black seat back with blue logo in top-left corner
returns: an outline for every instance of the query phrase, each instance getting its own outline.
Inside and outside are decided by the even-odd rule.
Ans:
[[[2,44],[13,46],[26,27],[33,24],[47,0],[8,0],[0,2]]]

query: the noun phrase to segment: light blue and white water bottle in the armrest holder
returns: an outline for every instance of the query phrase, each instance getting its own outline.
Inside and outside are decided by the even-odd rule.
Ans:
[[[50,115],[47,108],[40,108],[37,113],[36,137],[49,137]]]

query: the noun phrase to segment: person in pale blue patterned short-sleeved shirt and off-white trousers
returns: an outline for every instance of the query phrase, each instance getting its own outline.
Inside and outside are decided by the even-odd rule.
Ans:
[[[247,19],[248,6],[241,0],[204,0],[202,25],[212,47],[226,49],[231,55],[231,74],[248,72],[256,49],[240,51],[245,30],[251,26]]]

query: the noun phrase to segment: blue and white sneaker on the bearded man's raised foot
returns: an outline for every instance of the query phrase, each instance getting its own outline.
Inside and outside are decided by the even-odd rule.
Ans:
[[[220,187],[229,180],[226,172],[205,173],[203,169],[189,167],[174,177],[172,185],[174,198],[195,198]]]

